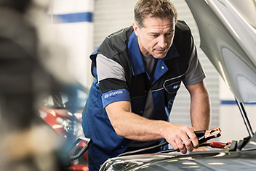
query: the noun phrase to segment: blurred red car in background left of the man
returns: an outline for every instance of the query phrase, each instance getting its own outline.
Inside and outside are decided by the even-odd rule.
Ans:
[[[88,170],[87,152],[84,151],[89,147],[85,141],[90,140],[84,137],[81,128],[81,112],[88,93],[89,91],[83,86],[72,87],[68,91],[48,96],[44,100],[44,107],[40,110],[40,116],[63,138],[63,141],[66,141],[65,144],[73,144],[68,154],[70,156],[68,170]]]

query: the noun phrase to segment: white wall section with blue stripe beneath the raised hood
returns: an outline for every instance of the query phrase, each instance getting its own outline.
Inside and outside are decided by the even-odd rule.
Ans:
[[[256,128],[256,105],[255,103],[244,104],[252,130]],[[223,78],[220,78],[220,128],[223,130],[221,141],[239,141],[248,136],[244,120],[236,104],[233,93],[225,85]]]

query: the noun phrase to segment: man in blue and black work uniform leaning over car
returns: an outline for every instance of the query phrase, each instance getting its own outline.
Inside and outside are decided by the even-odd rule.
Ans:
[[[193,131],[209,128],[209,96],[191,31],[172,2],[137,1],[132,27],[109,35],[90,58],[95,81],[82,121],[93,141],[90,170],[161,140],[183,154],[199,146]],[[191,94],[193,128],[167,122],[181,81]]]

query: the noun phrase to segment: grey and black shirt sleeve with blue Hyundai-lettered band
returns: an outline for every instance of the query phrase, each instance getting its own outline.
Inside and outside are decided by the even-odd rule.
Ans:
[[[96,58],[97,79],[103,107],[116,101],[130,101],[124,68],[103,54]]]

